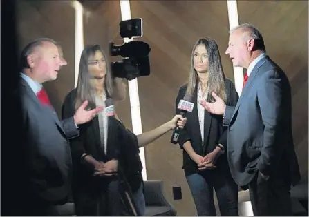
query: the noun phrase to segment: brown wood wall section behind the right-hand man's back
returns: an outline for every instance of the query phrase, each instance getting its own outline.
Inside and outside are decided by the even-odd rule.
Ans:
[[[256,25],[292,87],[292,129],[301,174],[308,172],[308,1],[238,1],[240,23]]]

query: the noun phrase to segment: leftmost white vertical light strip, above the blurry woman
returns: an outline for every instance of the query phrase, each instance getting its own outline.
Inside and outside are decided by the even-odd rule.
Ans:
[[[74,1],[75,8],[75,75],[74,75],[74,87],[77,85],[79,61],[84,49],[84,25],[83,14],[84,9],[79,1]]]

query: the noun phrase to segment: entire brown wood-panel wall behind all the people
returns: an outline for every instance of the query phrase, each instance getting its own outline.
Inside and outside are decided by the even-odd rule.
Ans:
[[[66,3],[66,6],[64,6]],[[36,37],[61,41],[68,65],[57,81],[46,84],[56,110],[74,86],[74,8],[67,1],[19,3],[21,45]],[[84,44],[121,44],[119,1],[84,3]],[[48,11],[47,11],[48,10]],[[131,1],[132,18],[143,19],[145,41],[151,46],[151,75],[138,79],[143,131],[174,116],[178,89],[187,81],[191,48],[200,37],[218,43],[225,75],[234,81],[232,63],[225,55],[228,42],[226,1]],[[308,172],[308,1],[238,1],[240,23],[261,30],[270,57],[288,74],[293,95],[293,133],[301,173]],[[112,57],[113,61],[119,57]],[[118,114],[131,128],[128,99],[117,106]],[[165,195],[178,216],[195,216],[189,187],[182,172],[182,152],[169,143],[171,133],[145,149],[149,180],[163,180]],[[182,187],[182,200],[173,200],[172,187]]]

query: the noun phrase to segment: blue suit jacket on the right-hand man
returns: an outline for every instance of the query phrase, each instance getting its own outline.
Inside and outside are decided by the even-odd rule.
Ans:
[[[292,137],[291,88],[287,76],[268,56],[252,70],[236,107],[227,106],[228,160],[238,185],[257,171],[300,178]],[[283,176],[282,176],[283,175]]]

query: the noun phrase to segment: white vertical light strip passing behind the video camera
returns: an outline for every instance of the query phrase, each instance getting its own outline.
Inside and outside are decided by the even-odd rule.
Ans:
[[[129,0],[120,0],[120,11],[122,21],[131,19],[131,8]],[[124,39],[124,43],[128,43],[132,39]],[[129,97],[131,105],[131,121],[132,130],[135,135],[142,134],[142,120],[140,117],[140,98],[138,96],[138,79],[128,81]],[[144,147],[140,148],[140,160],[142,161],[142,178],[147,180],[146,159],[144,154]]]

